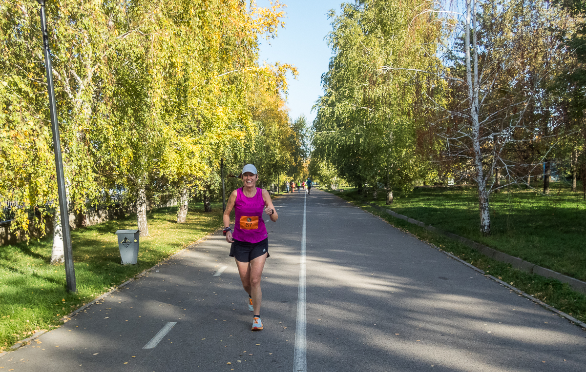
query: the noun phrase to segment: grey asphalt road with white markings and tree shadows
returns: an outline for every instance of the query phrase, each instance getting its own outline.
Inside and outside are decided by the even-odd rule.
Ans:
[[[586,370],[584,330],[381,219],[318,190],[275,206],[264,330],[217,234],[0,371]]]

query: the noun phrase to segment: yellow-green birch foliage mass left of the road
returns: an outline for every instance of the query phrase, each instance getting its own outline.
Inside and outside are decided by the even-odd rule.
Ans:
[[[12,229],[25,231],[28,213],[46,214],[57,199],[38,8],[0,5],[0,209],[15,202]],[[240,0],[48,2],[70,209],[108,203],[115,189],[129,201],[141,190],[151,199],[217,191],[222,158],[228,173],[253,154],[270,181],[281,174],[289,151],[281,139],[288,132],[279,129],[288,123],[285,74],[297,71],[260,66],[258,40],[275,36],[282,8]],[[251,99],[259,90],[268,98]],[[254,120],[274,107],[276,127]]]

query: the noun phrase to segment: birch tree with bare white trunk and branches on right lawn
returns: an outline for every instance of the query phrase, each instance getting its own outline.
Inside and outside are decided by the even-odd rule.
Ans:
[[[503,187],[496,170],[525,182],[518,171],[531,166],[507,150],[538,142],[545,146],[542,160],[551,151],[558,122],[548,113],[547,86],[564,60],[553,53],[559,41],[548,25],[563,14],[542,1],[466,0],[463,11],[459,4],[427,11],[445,15],[447,35],[442,68],[428,71],[449,84],[445,103],[434,101],[434,123],[445,156],[471,168],[480,230],[488,236],[490,193]]]

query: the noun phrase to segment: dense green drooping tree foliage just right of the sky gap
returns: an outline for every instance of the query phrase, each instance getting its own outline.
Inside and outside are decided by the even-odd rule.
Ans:
[[[331,13],[335,56],[316,104],[312,160],[331,163],[356,186],[407,191],[428,170],[417,146],[423,123],[415,119],[427,77],[402,70],[437,63],[438,30],[414,20],[420,6],[428,2],[356,1],[343,4],[338,16]]]

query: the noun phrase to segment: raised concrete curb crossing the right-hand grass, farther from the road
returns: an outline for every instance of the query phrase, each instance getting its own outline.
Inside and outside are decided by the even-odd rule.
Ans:
[[[447,232],[445,230],[434,228],[434,226],[425,225],[425,223],[423,223],[421,221],[417,221],[413,218],[409,218],[407,216],[400,215],[399,213],[393,212],[390,209],[386,209],[381,206],[373,205],[370,203],[364,203],[364,205],[372,206],[373,208],[378,209],[381,212],[386,212],[387,214],[389,214],[393,217],[403,219],[404,221],[407,221],[409,223],[413,223],[414,225],[421,226],[422,228],[425,228],[429,231],[436,232],[441,235],[447,236],[450,239],[458,240],[458,242],[465,244],[466,246],[471,247],[472,249],[478,250],[478,252],[481,252],[482,254],[490,257],[491,259],[511,264],[512,267],[517,268],[519,270],[526,271],[527,273],[530,273],[530,274],[541,275],[542,277],[546,277],[546,278],[554,278],[554,279],[561,281],[562,283],[567,283],[570,285],[570,287],[573,290],[586,294],[586,282],[584,282],[584,281],[578,280],[576,278],[568,277],[567,275],[557,273],[556,271],[549,270],[548,268],[537,266],[536,264],[532,264],[528,261],[524,261],[524,260],[519,259],[518,257],[515,257],[515,256],[510,256],[510,254],[506,254],[506,253],[500,252],[496,249],[487,247],[483,244],[476,243],[473,240],[466,239],[465,237],[452,234],[451,232]]]

